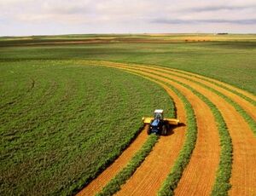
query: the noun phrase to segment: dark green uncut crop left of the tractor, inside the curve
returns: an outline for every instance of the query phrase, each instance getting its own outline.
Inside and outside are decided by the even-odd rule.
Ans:
[[[13,61],[0,72],[2,195],[75,193],[129,145],[144,115],[172,111],[164,89],[111,68]]]

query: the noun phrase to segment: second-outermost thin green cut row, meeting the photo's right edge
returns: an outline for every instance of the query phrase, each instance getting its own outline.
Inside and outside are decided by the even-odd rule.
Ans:
[[[175,73],[172,73],[172,74],[175,75],[178,78],[184,78],[184,79],[186,79],[186,80],[188,80],[190,82],[193,82],[195,84],[199,84],[203,88],[209,89],[213,93],[215,93],[218,96],[222,97],[225,101],[230,103],[231,106],[235,107],[236,111],[239,112],[241,114],[242,118],[244,118],[245,121],[247,122],[247,124],[249,124],[251,130],[253,131],[253,134],[256,135],[256,121],[239,104],[237,104],[236,101],[231,100],[228,96],[226,96],[223,93],[219,92],[217,89],[213,89],[212,87],[207,86],[207,84],[202,84],[201,82],[195,81],[193,79],[176,75]],[[172,79],[172,78],[169,78],[169,77],[165,77],[165,78]],[[172,80],[174,80],[174,79],[172,79]],[[177,80],[175,80],[175,81],[177,81]]]

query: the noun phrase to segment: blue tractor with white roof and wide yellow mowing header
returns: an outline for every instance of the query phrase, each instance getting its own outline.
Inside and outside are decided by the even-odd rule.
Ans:
[[[164,111],[154,110],[154,117],[143,117],[143,124],[149,124],[148,135],[151,133],[157,135],[167,135],[170,125],[178,125],[179,120],[175,118],[164,118]]]

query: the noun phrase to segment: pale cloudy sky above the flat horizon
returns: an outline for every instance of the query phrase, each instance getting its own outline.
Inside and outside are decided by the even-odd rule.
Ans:
[[[256,0],[0,0],[0,36],[256,33]]]

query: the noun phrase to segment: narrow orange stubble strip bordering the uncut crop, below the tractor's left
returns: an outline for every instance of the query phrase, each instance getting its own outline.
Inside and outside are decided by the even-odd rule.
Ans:
[[[90,182],[87,187],[84,187],[77,195],[95,195],[115,176],[125,164],[129,162],[132,156],[143,146],[143,143],[147,140],[148,135],[145,127],[142,132],[137,136],[136,140],[131,143],[129,147],[111,164],[106,170],[102,172],[95,180]]]

